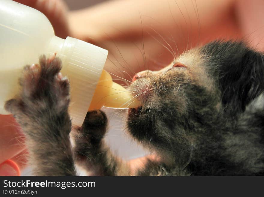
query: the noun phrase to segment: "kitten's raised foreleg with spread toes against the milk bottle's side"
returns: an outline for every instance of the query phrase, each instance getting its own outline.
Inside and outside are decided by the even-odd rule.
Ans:
[[[21,94],[6,102],[22,127],[34,175],[75,175],[69,133],[69,82],[55,56],[26,66]]]

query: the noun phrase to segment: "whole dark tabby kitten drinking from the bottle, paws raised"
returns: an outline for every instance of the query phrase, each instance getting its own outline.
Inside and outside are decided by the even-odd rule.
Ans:
[[[157,154],[135,172],[104,143],[104,112],[89,111],[71,128],[60,69],[58,58],[41,56],[5,104],[35,175],[78,175],[76,167],[89,175],[264,175],[264,55],[244,43],[208,43],[134,77],[130,90],[143,105],[128,109],[127,129]]]

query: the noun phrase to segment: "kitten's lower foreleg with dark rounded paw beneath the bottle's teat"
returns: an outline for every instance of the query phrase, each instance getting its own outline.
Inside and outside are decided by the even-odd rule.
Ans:
[[[130,175],[128,165],[105,144],[106,128],[107,117],[101,110],[89,111],[82,127],[73,128],[70,137],[77,168],[94,176]]]

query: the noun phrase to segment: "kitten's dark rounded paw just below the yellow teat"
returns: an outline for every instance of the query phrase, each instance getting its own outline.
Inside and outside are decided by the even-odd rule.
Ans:
[[[101,140],[107,129],[107,116],[101,110],[88,111],[82,124],[82,132],[91,139]]]

